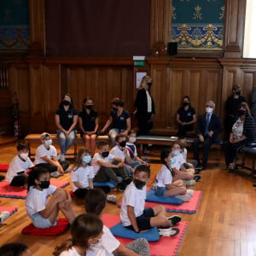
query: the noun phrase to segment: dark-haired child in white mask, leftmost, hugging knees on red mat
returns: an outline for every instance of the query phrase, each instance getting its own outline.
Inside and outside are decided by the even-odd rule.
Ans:
[[[18,154],[9,164],[6,180],[11,186],[26,188],[28,177],[26,172],[34,165],[28,157],[29,148],[27,145],[21,143],[18,144],[17,151]]]

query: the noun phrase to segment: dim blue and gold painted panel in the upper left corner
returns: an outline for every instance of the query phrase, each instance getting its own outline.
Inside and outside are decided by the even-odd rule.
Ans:
[[[28,45],[28,0],[0,0],[0,50],[23,50]]]

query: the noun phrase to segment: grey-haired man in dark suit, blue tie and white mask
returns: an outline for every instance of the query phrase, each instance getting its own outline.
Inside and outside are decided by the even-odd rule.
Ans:
[[[207,101],[206,113],[199,116],[196,124],[196,135],[195,141],[192,145],[195,160],[199,160],[199,146],[203,144],[203,160],[201,168],[207,168],[207,160],[210,151],[210,147],[213,143],[220,143],[218,139],[218,134],[222,130],[222,125],[218,115],[213,113],[215,108],[215,103],[212,101]]]

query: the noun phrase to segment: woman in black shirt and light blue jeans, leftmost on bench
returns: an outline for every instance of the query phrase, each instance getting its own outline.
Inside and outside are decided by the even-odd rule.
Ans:
[[[61,148],[61,154],[58,155],[59,160],[65,160],[67,149],[73,145],[77,135],[75,127],[78,123],[78,118],[78,112],[73,108],[72,97],[69,94],[65,94],[55,112],[55,124]]]

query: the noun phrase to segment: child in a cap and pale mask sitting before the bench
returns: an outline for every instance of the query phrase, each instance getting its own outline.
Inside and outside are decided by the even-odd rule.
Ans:
[[[69,171],[69,161],[58,161],[56,148],[48,132],[41,134],[41,145],[36,150],[35,166],[49,170],[51,177],[59,177]]]

